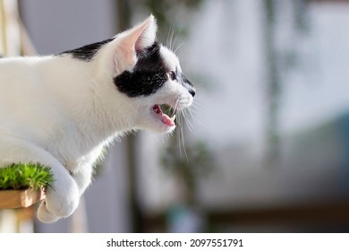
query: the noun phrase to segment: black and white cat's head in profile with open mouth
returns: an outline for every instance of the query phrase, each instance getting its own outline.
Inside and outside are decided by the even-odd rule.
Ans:
[[[174,115],[192,105],[195,89],[174,53],[156,41],[157,24],[147,20],[115,36],[113,82],[118,98],[133,107],[135,126],[159,133],[174,130]],[[109,54],[110,55],[110,54]],[[169,109],[167,115],[164,106]]]

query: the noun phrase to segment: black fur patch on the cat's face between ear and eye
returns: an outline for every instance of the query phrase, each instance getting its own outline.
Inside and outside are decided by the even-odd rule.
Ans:
[[[160,45],[137,52],[137,64],[133,71],[125,71],[114,78],[117,89],[134,98],[155,93],[168,80],[167,65],[160,55]]]

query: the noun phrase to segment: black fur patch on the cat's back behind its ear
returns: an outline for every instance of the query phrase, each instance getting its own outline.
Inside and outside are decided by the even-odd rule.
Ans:
[[[101,48],[103,45],[109,43],[112,40],[113,39],[106,39],[104,41],[101,41],[101,42],[98,42],[98,43],[94,43],[94,44],[89,44],[89,45],[83,46],[81,48],[75,48],[75,49],[72,49],[72,50],[67,50],[67,51],[64,51],[64,52],[60,53],[60,55],[71,54],[73,58],[89,62],[89,61],[92,60],[93,56],[96,55],[96,53],[98,52],[99,48]]]

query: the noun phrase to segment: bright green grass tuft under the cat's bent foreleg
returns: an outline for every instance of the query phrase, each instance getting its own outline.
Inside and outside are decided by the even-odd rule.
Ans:
[[[39,163],[11,164],[0,168],[0,190],[40,189],[51,186],[51,169]]]

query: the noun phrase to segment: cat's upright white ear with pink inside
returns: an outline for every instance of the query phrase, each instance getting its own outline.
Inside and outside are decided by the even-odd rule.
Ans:
[[[123,63],[126,63],[125,65],[135,65],[137,62],[136,52],[153,45],[156,33],[157,22],[154,16],[150,15],[149,18],[140,22],[131,30],[126,30],[117,36],[118,49],[123,52],[123,60],[125,60]]]

